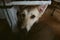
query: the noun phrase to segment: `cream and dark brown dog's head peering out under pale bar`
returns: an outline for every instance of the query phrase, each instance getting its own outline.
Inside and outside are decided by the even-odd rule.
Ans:
[[[19,21],[22,23],[21,28],[26,28],[29,31],[32,25],[38,21],[43,15],[47,5],[41,6],[28,6],[19,12]]]

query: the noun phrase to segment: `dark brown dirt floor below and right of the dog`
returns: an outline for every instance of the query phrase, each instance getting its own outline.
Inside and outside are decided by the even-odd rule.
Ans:
[[[30,32],[20,30],[11,32],[5,19],[0,19],[0,40],[60,40],[60,9],[54,2],[48,6],[44,15],[35,23]],[[59,14],[59,15],[58,15]]]

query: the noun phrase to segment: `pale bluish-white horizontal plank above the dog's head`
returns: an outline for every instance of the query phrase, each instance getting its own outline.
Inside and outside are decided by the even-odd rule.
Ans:
[[[51,1],[13,1],[10,3],[6,3],[6,6],[11,5],[45,5],[45,4],[51,4]]]

